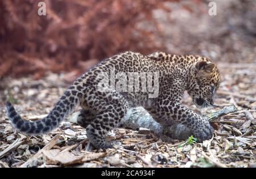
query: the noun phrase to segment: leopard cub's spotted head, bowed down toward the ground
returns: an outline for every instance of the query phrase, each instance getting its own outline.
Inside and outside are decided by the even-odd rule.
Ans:
[[[188,93],[197,107],[212,106],[219,85],[220,73],[216,65],[209,59],[199,59],[192,65]]]

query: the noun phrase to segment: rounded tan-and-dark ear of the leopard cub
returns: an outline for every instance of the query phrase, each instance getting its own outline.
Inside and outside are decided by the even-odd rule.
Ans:
[[[200,76],[207,76],[212,73],[215,66],[213,62],[198,61],[195,64],[195,69]]]

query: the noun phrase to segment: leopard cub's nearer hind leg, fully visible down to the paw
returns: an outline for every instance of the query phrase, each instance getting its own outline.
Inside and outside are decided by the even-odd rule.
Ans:
[[[106,135],[118,126],[125,116],[128,103],[118,92],[98,93],[93,99],[85,99],[88,107],[96,112],[94,120],[86,127],[86,135],[96,148],[111,148],[119,144],[106,140]]]

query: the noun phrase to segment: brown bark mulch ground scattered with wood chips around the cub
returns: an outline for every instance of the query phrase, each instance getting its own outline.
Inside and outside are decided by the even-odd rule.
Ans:
[[[34,137],[17,133],[6,117],[9,99],[26,120],[46,116],[70,84],[70,74],[40,80],[5,78],[0,84],[0,167],[256,167],[255,64],[218,63],[222,83],[215,107],[199,110],[185,93],[183,104],[200,114],[235,105],[237,112],[212,123],[214,137],[204,143],[193,138],[164,142],[147,130],[115,129],[109,139],[122,145],[96,150],[85,130],[71,116],[60,127]],[[145,132],[146,131],[146,132]]]

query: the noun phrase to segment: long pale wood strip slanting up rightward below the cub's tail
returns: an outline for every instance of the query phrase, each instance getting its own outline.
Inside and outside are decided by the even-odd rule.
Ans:
[[[32,156],[30,159],[28,159],[24,164],[20,165],[20,168],[26,168],[28,165],[32,163],[35,159],[38,159],[42,156],[43,151],[50,150],[55,144],[57,143],[57,140],[60,138],[60,135],[55,135],[55,137],[52,138],[52,140],[46,144],[37,154]]]

